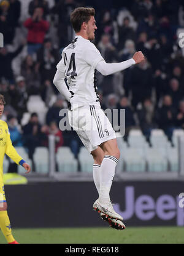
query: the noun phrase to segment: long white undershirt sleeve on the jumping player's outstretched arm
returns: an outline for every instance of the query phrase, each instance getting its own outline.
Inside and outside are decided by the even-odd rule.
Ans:
[[[98,70],[104,76],[108,76],[109,74],[125,70],[134,64],[136,64],[136,62],[133,58],[119,63],[106,63],[104,60],[101,60],[101,62],[98,62],[96,65],[96,70]]]

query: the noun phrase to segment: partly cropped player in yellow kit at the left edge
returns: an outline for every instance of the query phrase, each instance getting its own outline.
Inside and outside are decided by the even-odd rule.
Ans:
[[[2,179],[4,154],[7,154],[7,156],[16,162],[16,164],[23,166],[26,170],[26,174],[31,171],[31,167],[21,158],[21,156],[19,156],[15,148],[12,146],[7,123],[1,120],[1,116],[4,111],[4,104],[4,96],[0,94],[0,228],[9,244],[18,244],[12,236],[10,220],[7,215],[7,202]]]

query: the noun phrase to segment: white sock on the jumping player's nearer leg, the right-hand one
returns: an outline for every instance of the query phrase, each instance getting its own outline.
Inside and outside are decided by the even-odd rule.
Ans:
[[[104,156],[101,163],[100,172],[100,191],[99,191],[99,202],[102,205],[107,205],[110,202],[110,188],[115,176],[115,168],[117,166],[118,159],[114,156]]]

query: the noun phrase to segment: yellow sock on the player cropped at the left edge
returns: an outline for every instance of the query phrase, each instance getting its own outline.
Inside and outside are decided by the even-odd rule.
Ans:
[[[0,211],[0,228],[7,242],[15,241],[12,236],[12,228],[10,226],[9,216],[7,215],[7,210]]]

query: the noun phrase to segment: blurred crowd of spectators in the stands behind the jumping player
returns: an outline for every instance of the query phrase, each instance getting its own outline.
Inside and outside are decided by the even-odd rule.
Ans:
[[[174,129],[184,129],[184,50],[177,39],[184,26],[182,0],[2,0],[0,94],[6,98],[3,119],[13,145],[28,148],[32,159],[36,146],[47,146],[54,134],[56,150],[70,146],[77,158],[82,143],[74,131],[58,128],[59,111],[67,104],[52,81],[63,48],[74,38],[69,15],[80,6],[96,9],[94,44],[107,63],[132,58],[138,50],[146,57],[120,73],[97,73],[102,108],[125,109],[125,138],[132,127],[147,138],[156,127],[168,138]],[[28,108],[35,95],[47,110],[41,121],[39,108]]]

